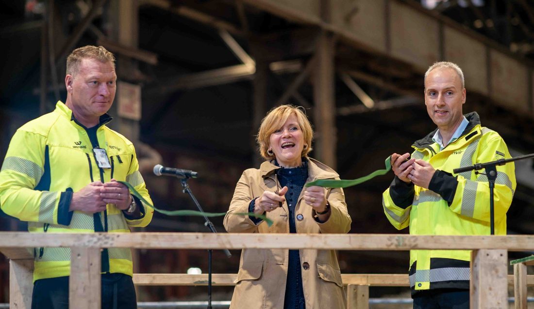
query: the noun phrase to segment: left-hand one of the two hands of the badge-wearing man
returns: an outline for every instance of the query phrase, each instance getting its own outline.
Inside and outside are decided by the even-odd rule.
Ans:
[[[74,192],[70,200],[69,211],[79,210],[88,214],[103,212],[107,203],[100,196],[102,189],[104,189],[104,184],[96,181]]]

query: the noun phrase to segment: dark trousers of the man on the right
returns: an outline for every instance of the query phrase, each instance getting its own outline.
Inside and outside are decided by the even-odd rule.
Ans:
[[[413,296],[413,309],[469,309],[469,290],[418,291]]]

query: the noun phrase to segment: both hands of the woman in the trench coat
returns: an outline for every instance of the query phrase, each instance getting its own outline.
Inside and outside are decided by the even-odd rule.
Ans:
[[[312,185],[304,188],[304,201],[315,209],[317,213],[322,213],[326,210],[326,193],[325,188]],[[254,202],[254,213],[263,214],[264,212],[272,212],[277,209],[280,203],[286,201],[284,197],[287,193],[287,186],[276,192],[264,191],[262,195],[256,198]]]

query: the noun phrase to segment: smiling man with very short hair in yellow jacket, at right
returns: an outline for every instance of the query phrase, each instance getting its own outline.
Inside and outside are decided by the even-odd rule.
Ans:
[[[383,193],[386,216],[414,235],[490,234],[485,175],[454,168],[510,158],[502,137],[482,127],[476,112],[462,115],[464,75],[451,62],[425,74],[425,104],[437,129],[416,141],[414,152],[391,156],[395,179]],[[497,167],[495,233],[506,234],[506,212],[516,186],[514,164]],[[411,250],[414,308],[469,308],[469,250]]]

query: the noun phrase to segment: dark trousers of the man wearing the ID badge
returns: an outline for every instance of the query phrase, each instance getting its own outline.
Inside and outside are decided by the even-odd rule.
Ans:
[[[133,281],[126,274],[103,274],[101,297],[102,309],[137,308]],[[32,309],[68,309],[68,277],[35,281]]]

